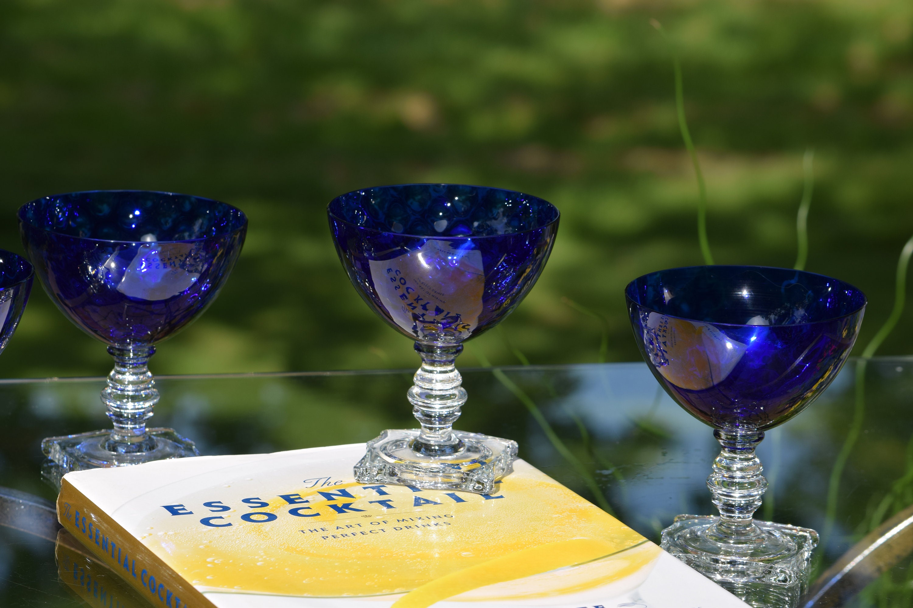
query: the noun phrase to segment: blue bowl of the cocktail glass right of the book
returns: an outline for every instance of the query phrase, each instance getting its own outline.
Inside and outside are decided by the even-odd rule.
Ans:
[[[762,431],[798,414],[837,376],[866,309],[853,285],[761,266],[674,268],[624,293],[654,376],[714,428]]]

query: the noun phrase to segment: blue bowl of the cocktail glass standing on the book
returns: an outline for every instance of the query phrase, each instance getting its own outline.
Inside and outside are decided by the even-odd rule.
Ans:
[[[353,191],[327,211],[364,301],[424,344],[463,342],[509,314],[539,278],[559,222],[548,201],[456,184]]]

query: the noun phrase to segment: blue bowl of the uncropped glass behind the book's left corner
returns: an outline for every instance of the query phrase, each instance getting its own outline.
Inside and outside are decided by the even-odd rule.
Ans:
[[[184,194],[89,191],[26,203],[19,227],[39,280],[73,323],[109,345],[153,345],[213,302],[247,217]]]

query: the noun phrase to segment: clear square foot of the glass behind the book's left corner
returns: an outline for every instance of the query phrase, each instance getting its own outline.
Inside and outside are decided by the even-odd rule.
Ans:
[[[104,444],[110,436],[110,429],[105,429],[44,439],[41,442],[41,451],[45,453],[47,460],[41,469],[42,476],[59,488],[60,479],[71,470],[127,467],[152,460],[183,459],[200,455],[194,442],[181,437],[173,428],[147,428],[146,436],[152,439],[154,448],[132,453],[105,449]]]

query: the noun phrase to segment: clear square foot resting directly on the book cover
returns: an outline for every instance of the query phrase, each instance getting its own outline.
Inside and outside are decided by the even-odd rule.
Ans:
[[[355,465],[361,483],[394,483],[421,489],[461,489],[479,494],[495,490],[495,481],[513,471],[517,442],[478,433],[454,431],[463,449],[448,455],[422,456],[412,444],[419,430],[385,430],[368,442]]]

